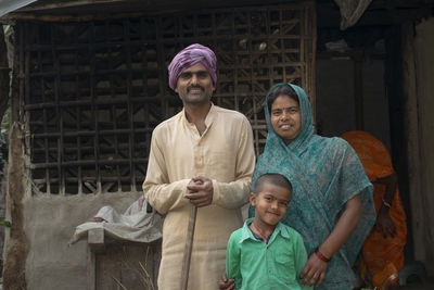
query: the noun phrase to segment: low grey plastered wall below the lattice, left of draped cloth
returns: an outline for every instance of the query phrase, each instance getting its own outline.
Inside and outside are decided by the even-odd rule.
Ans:
[[[138,194],[105,193],[24,199],[25,231],[29,240],[27,289],[86,289],[87,241],[68,247],[75,227],[103,205],[123,213]],[[42,278],[43,277],[43,278]]]

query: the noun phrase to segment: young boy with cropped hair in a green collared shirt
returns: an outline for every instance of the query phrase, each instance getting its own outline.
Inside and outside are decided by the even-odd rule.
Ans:
[[[280,174],[261,175],[250,201],[255,217],[232,232],[226,269],[235,289],[312,289],[298,279],[307,253],[301,235],[280,223],[289,206],[291,182]]]

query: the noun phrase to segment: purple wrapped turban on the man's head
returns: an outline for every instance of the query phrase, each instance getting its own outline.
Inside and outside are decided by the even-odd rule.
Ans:
[[[190,66],[202,63],[208,71],[213,84],[217,83],[216,64],[217,59],[214,51],[199,43],[191,45],[174,58],[167,70],[169,71],[169,87],[175,90],[179,75]]]

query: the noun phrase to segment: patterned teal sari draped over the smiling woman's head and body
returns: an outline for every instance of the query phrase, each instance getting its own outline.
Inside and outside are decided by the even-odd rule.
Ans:
[[[334,253],[321,285],[324,289],[331,285],[335,286],[333,289],[349,289],[348,281],[354,278],[352,264],[375,220],[372,185],[345,140],[314,133],[309,99],[301,87],[289,85],[298,94],[301,130],[286,146],[272,128],[266,100],[267,142],[256,163],[252,184],[254,186],[256,178],[265,173],[280,173],[292,182],[291,203],[281,222],[302,235],[308,253],[333,230],[345,203],[360,193],[362,216],[348,240]],[[253,209],[250,215],[254,215]]]

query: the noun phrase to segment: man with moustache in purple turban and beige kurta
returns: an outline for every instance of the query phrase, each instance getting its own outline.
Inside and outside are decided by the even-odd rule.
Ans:
[[[183,110],[153,131],[144,197],[161,214],[159,290],[178,290],[191,206],[197,206],[189,289],[218,289],[230,234],[241,227],[255,165],[246,117],[210,102],[216,56],[201,45],[180,51],[168,66],[169,87]]]

